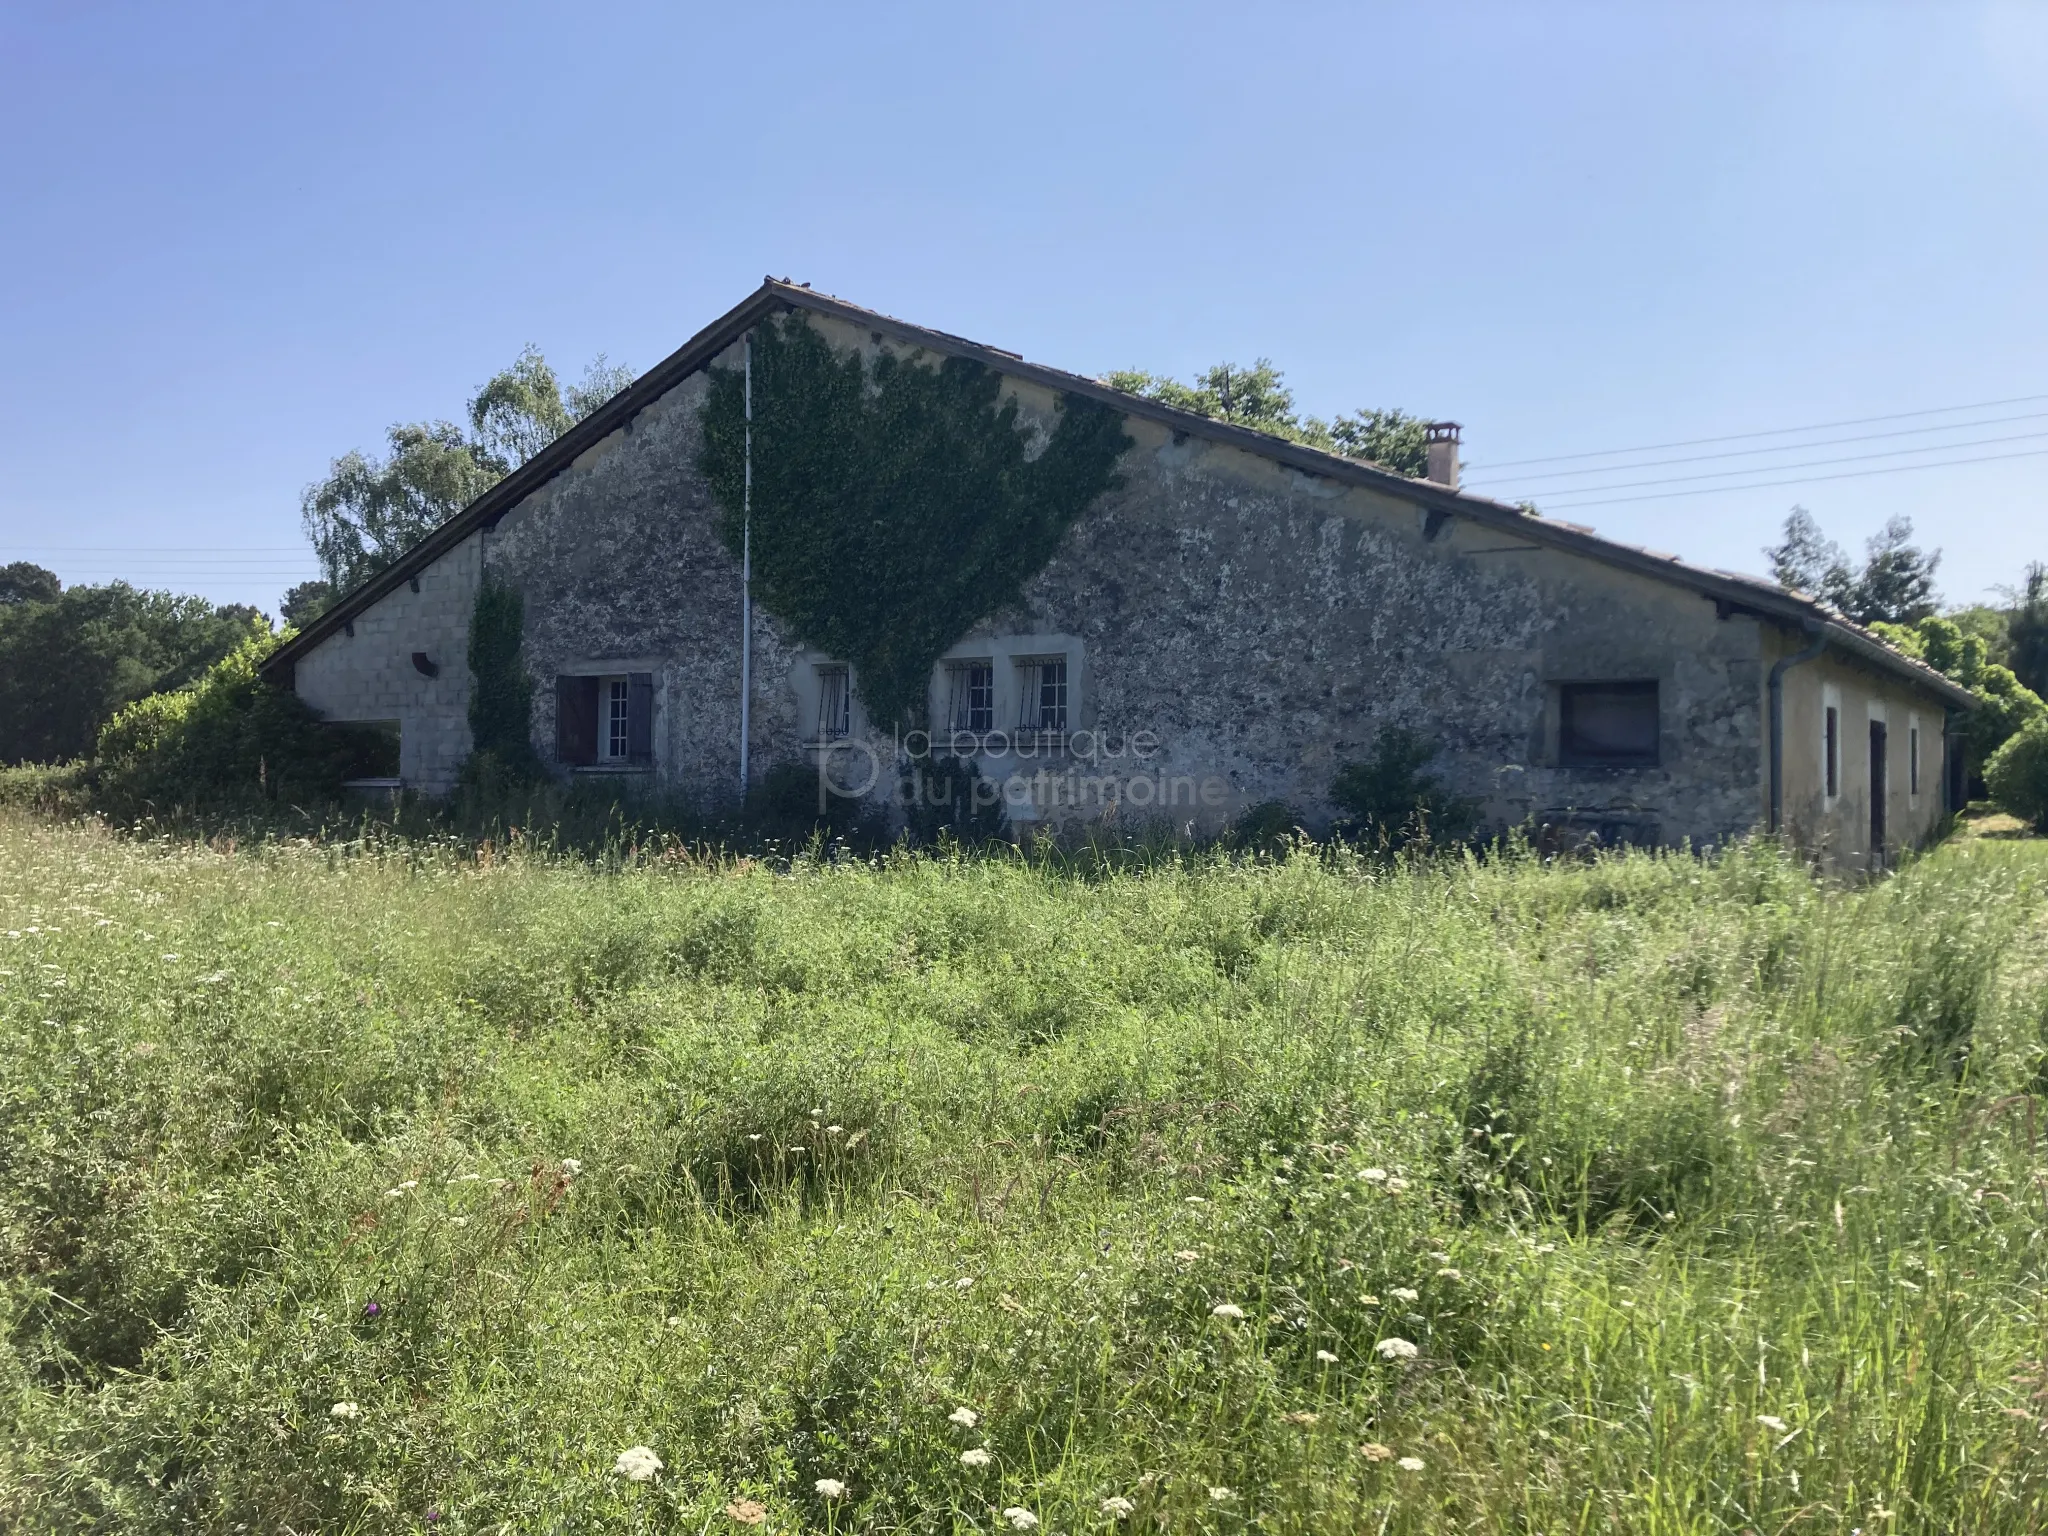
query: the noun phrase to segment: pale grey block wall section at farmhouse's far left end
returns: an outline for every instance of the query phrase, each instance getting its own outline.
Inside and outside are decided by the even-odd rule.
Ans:
[[[330,721],[395,721],[399,776],[428,795],[455,788],[469,756],[469,614],[477,600],[477,537],[420,571],[299,657],[293,688]],[[424,676],[422,651],[438,668]]]

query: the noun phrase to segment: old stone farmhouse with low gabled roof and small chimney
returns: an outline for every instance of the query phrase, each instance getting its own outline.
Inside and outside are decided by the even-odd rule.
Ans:
[[[729,539],[705,422],[768,326],[868,365],[985,371],[1036,442],[1069,408],[1122,422],[1114,481],[930,657],[924,731],[868,719],[850,657],[743,592],[754,547]],[[1862,866],[1956,805],[1962,688],[1804,594],[1460,494],[1458,432],[1432,436],[1411,479],[766,281],[348,592],[270,676],[393,731],[379,784],[446,793],[494,582],[524,604],[543,760],[707,807],[791,762],[887,797],[905,754],[934,752],[973,760],[1014,827],[1202,829],[1264,801],[1315,825],[1389,725],[1434,743],[1432,772],[1487,825],[1563,838],[1778,827]]]

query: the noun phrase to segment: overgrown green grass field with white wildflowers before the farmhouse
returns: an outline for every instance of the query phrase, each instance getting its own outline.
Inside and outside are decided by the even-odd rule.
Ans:
[[[2040,1532],[2044,1055],[2048,844],[14,817],[0,1526]]]

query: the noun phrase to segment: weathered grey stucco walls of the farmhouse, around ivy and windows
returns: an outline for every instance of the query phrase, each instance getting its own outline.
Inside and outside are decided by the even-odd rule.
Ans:
[[[887,344],[840,322],[813,324],[840,346]],[[723,358],[737,360],[737,348]],[[543,756],[555,743],[555,674],[653,672],[655,762],[635,782],[715,805],[737,793],[739,571],[694,467],[705,393],[705,375],[694,375],[588,451],[483,535],[481,559],[524,594]],[[1012,393],[1026,422],[1051,424],[1049,391],[1012,385]],[[991,614],[952,651],[1008,666],[1055,647],[1071,659],[1069,727],[1085,733],[1087,748],[1075,741],[1047,758],[1006,743],[981,754],[983,772],[1012,780],[1012,791],[1032,782],[1012,793],[1012,817],[1100,815],[1100,793],[1077,805],[1071,786],[1063,797],[1051,782],[1079,774],[1098,791],[1118,776],[1126,786],[1153,780],[1116,795],[1126,819],[1217,823],[1270,799],[1321,819],[1331,813],[1333,774],[1370,756],[1384,725],[1436,741],[1436,772],[1497,827],[1536,821],[1567,836],[1714,844],[1765,817],[1763,674],[1780,653],[1774,627],[1722,618],[1712,600],[1679,586],[1513,530],[1425,514],[1399,496],[1149,420],[1126,426],[1135,446],[1120,465],[1124,483],[1071,530],[1014,612]],[[453,778],[451,762],[467,743],[467,674],[446,612],[434,610],[436,639],[422,645],[414,635],[428,633],[440,592],[463,580],[473,592],[475,557],[463,559],[467,575],[451,569],[446,586],[422,582],[412,606],[401,602],[410,594],[393,594],[356,621],[354,641],[328,641],[301,662],[301,688],[322,709],[332,700],[356,711],[350,717],[379,717],[360,711],[401,694],[391,707],[408,721],[408,764],[418,764],[424,788]],[[457,557],[434,569],[451,563]],[[461,621],[467,631],[467,610]],[[438,688],[406,682],[410,651],[436,647],[457,659]],[[756,780],[776,762],[811,760],[821,659],[756,610]],[[1798,688],[1819,698],[1821,670],[1794,676],[1788,707],[1798,717]],[[1565,766],[1561,684],[1640,680],[1659,686],[1659,762]],[[1876,684],[1876,674],[1860,674],[1858,698]],[[936,705],[940,686],[934,676]],[[1898,752],[1909,711],[1923,731],[1923,788],[1911,797],[1905,768],[1894,774],[1892,825],[1898,838],[1923,836],[1937,817],[1929,807],[1939,805],[1939,705],[1909,698],[1905,684],[1888,688]],[[1792,731],[1812,735],[1804,725]],[[858,711],[854,733],[881,762],[883,788],[893,788],[895,743],[868,733]],[[1133,741],[1145,750],[1133,754]],[[1788,774],[1804,795],[1796,774],[1810,770],[1788,758]],[[854,764],[848,776],[866,770]],[[1843,797],[1815,819],[1790,791],[1788,809],[1798,827],[1833,840],[1855,815]]]

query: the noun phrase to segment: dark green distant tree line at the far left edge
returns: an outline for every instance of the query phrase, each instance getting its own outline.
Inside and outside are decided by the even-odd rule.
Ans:
[[[49,586],[53,575],[35,590]],[[0,602],[0,762],[88,756],[117,709],[182,688],[256,625],[268,631],[246,604],[215,606],[125,582]]]

